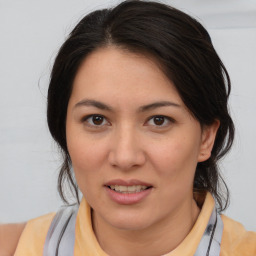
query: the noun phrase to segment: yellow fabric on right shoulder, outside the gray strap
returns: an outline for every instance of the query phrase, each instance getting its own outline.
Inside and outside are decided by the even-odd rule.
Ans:
[[[241,223],[225,215],[221,218],[224,224],[221,256],[256,255],[256,233],[246,231]]]

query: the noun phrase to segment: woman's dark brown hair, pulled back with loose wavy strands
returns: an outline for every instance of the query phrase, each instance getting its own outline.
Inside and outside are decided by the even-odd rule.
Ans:
[[[67,202],[63,184],[68,181],[78,199],[65,127],[73,80],[86,56],[108,45],[152,56],[202,126],[220,121],[211,157],[197,165],[194,189],[209,191],[219,210],[225,209],[229,194],[217,161],[228,152],[234,139],[227,106],[229,75],[209,34],[198,21],[173,7],[151,1],[124,1],[112,9],[90,13],[59,50],[51,73],[47,118],[64,157],[58,180],[61,198]]]

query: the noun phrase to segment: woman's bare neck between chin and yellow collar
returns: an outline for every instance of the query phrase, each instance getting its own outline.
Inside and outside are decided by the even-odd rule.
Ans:
[[[184,240],[199,212],[193,200],[189,206],[182,206],[171,219],[166,218],[143,230],[122,230],[109,226],[93,213],[93,228],[101,248],[110,256],[164,255]]]

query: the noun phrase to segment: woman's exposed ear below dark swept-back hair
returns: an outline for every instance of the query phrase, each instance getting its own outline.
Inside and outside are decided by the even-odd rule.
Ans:
[[[198,162],[204,162],[210,158],[219,126],[220,121],[215,120],[211,125],[207,125],[202,128],[202,141],[198,155]]]

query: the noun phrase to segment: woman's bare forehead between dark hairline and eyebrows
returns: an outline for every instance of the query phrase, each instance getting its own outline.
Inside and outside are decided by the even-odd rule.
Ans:
[[[73,83],[71,100],[83,97],[113,100],[182,100],[173,84],[152,58],[108,47],[83,61]]]

